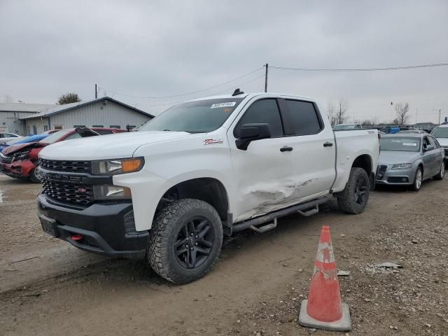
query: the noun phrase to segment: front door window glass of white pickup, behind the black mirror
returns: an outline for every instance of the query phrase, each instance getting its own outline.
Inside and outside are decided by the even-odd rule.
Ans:
[[[271,137],[283,136],[280,111],[275,99],[262,99],[253,103],[235,127],[235,137],[239,137],[241,126],[245,124],[269,124]]]

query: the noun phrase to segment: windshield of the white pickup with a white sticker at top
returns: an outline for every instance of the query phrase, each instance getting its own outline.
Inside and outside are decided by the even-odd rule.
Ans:
[[[148,121],[139,131],[211,132],[223,125],[243,99],[232,97],[182,103]]]

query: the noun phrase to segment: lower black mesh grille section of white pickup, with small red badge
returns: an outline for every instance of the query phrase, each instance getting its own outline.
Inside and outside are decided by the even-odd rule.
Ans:
[[[71,184],[43,180],[43,193],[48,197],[60,201],[80,205],[90,205],[94,202],[93,186]]]

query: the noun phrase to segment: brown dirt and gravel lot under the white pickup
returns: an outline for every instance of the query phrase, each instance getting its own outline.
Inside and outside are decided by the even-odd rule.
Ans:
[[[351,272],[339,279],[349,335],[448,335],[446,180],[423,183],[419,193],[377,190],[358,216],[331,202],[264,235],[243,232],[225,241],[213,272],[186,286],[144,262],[43,235],[38,189],[0,177],[1,335],[309,335],[297,313],[322,225],[331,227],[337,266]],[[374,267],[386,261],[403,267]]]

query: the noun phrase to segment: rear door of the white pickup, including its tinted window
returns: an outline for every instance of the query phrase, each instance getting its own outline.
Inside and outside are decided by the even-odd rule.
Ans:
[[[335,179],[335,139],[313,102],[279,99],[285,134],[293,147],[293,181],[300,200],[329,192]]]

